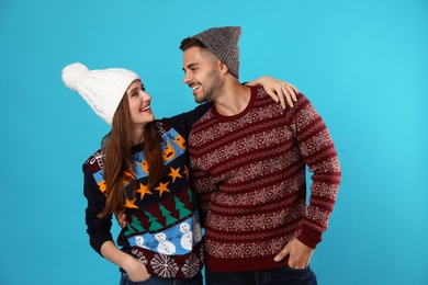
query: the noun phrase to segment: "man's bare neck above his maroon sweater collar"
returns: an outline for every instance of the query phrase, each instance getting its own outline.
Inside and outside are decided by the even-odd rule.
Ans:
[[[234,116],[243,112],[251,99],[251,90],[238,80],[225,80],[213,100],[216,111],[224,116]]]

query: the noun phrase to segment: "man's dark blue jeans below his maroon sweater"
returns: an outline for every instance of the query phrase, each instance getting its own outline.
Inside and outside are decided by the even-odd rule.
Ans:
[[[262,271],[215,272],[205,266],[206,285],[316,285],[311,267],[294,270],[288,265]]]

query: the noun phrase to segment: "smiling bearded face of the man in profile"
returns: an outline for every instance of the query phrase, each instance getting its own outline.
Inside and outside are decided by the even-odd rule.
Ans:
[[[188,48],[183,53],[183,82],[193,92],[198,103],[215,100],[215,91],[221,83],[219,60],[200,47]]]

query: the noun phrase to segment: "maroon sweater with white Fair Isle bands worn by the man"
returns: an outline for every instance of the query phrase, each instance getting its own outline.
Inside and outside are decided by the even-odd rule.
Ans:
[[[238,115],[212,107],[193,125],[189,152],[210,270],[274,269],[292,239],[314,249],[320,242],[341,173],[330,134],[303,94],[282,110],[255,87]],[[308,205],[305,166],[313,172]]]

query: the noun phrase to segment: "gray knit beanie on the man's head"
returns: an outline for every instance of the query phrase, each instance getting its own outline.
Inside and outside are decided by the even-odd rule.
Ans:
[[[240,26],[213,27],[193,36],[201,41],[223,64],[230,73],[239,78]]]

